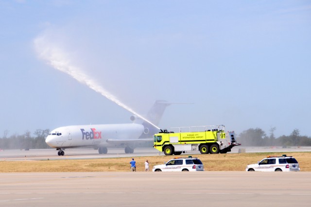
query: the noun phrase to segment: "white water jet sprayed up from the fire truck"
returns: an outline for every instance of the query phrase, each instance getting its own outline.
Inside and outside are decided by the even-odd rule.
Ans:
[[[109,91],[107,91],[98,83],[96,83],[95,80],[92,80],[90,77],[88,77],[85,73],[83,73],[81,69],[71,64],[69,58],[67,57],[66,52],[62,51],[60,47],[57,47],[54,44],[49,44],[50,42],[47,41],[44,36],[37,37],[34,42],[35,42],[35,49],[39,57],[42,58],[43,60],[46,60],[48,64],[51,65],[53,68],[69,74],[72,78],[76,79],[80,83],[85,84],[86,86],[90,87],[96,92],[102,94],[110,101],[113,101],[114,103],[120,105],[122,108],[138,116],[142,120],[147,121],[151,125],[155,126],[157,129],[160,129],[155,124],[151,123],[143,116],[139,115],[129,106],[121,103],[121,101],[118,100],[117,97],[115,97]]]

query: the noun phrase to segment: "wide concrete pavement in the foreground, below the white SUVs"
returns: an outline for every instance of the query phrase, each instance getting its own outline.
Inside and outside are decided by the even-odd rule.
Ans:
[[[309,207],[311,173],[1,173],[5,207]]]

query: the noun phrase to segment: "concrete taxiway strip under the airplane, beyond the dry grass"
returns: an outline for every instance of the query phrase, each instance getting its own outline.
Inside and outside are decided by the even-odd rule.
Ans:
[[[231,153],[238,153],[239,149],[245,149],[246,153],[257,153],[257,152],[311,152],[311,147],[292,147],[292,148],[281,148],[281,147],[242,147],[237,146],[232,148]],[[74,148],[66,149],[64,156],[58,156],[55,149],[30,149],[29,151],[24,150],[5,150],[0,151],[0,160],[6,161],[18,161],[18,160],[59,160],[59,159],[98,159],[98,158],[111,158],[111,157],[132,157],[132,156],[156,156],[164,155],[163,152],[149,147],[149,148],[136,148],[134,154],[125,154],[124,148],[108,148],[108,154],[98,154],[97,150],[89,148]],[[194,155],[199,152],[187,152],[182,155]]]

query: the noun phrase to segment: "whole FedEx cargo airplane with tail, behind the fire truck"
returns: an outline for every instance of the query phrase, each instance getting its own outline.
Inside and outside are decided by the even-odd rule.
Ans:
[[[147,114],[147,120],[158,125],[166,106],[171,103],[155,101]],[[137,143],[153,140],[156,128],[148,121],[131,116],[133,123],[62,126],[52,130],[45,142],[65,155],[63,149],[93,147],[99,154],[107,154],[107,147],[124,147],[125,153],[134,153]]]

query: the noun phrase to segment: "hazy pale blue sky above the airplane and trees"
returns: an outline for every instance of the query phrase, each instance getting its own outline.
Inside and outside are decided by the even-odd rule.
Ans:
[[[0,77],[0,137],[131,122],[79,78],[140,114],[194,103],[160,128],[311,136],[311,1],[0,0]]]

